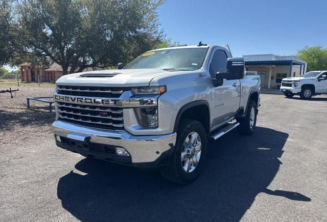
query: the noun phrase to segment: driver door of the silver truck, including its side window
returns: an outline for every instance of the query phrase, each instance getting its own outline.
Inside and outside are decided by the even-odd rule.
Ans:
[[[226,71],[227,54],[223,48],[217,47],[212,52],[209,62],[209,73],[212,78],[216,78],[217,72]],[[212,88],[211,94],[211,116],[212,128],[228,123],[235,117],[240,107],[240,80],[223,80],[223,85]]]

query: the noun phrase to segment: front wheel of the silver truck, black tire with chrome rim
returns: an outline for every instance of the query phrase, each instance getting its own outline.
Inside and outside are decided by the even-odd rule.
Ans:
[[[175,183],[186,184],[201,172],[207,150],[206,132],[196,120],[182,119],[177,130],[174,153],[161,175]]]

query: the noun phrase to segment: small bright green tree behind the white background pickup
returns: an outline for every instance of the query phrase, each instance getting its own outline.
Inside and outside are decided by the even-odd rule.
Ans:
[[[308,62],[307,71],[327,70],[327,49],[322,46],[305,46],[297,51],[296,57]]]

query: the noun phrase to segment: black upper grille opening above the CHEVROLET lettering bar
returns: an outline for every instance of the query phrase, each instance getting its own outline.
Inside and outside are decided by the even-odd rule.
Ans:
[[[86,87],[86,86],[58,86],[57,92],[69,96],[89,96],[103,98],[118,98],[127,88],[119,87]]]

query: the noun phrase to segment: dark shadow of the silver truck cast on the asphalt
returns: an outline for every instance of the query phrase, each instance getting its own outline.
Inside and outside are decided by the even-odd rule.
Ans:
[[[83,159],[76,172],[60,178],[57,195],[82,221],[238,221],[261,192],[311,201],[297,192],[267,188],[282,164],[278,158],[287,138],[287,133],[264,127],[252,136],[233,131],[210,144],[206,169],[186,186],[170,183],[156,171]]]

